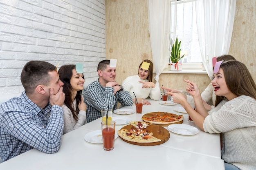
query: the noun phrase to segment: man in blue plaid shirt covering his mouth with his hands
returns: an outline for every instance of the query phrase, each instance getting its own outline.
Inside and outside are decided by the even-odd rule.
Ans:
[[[25,91],[0,106],[2,161],[32,148],[44,153],[56,153],[60,148],[65,94],[56,67],[29,61],[20,80]]]

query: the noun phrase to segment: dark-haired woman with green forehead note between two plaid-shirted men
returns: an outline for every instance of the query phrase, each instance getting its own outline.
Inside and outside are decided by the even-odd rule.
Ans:
[[[65,93],[64,109],[64,130],[68,133],[86,123],[86,109],[82,97],[84,78],[82,73],[76,72],[75,65],[63,65],[58,70],[60,80],[64,83]]]

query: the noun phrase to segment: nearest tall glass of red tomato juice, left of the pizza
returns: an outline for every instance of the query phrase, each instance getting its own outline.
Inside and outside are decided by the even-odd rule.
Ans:
[[[101,133],[104,150],[113,150],[115,143],[115,127],[116,122],[113,120],[101,122]]]

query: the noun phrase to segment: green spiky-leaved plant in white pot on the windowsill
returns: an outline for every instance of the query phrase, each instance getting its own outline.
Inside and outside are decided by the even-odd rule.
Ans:
[[[182,63],[179,63],[179,61],[184,57],[184,54],[182,57],[180,57],[180,50],[181,50],[180,44],[181,44],[181,41],[178,42],[178,38],[176,37],[176,40],[171,49],[171,56],[170,56],[171,63],[168,63],[168,67],[171,67],[171,70],[182,69]]]

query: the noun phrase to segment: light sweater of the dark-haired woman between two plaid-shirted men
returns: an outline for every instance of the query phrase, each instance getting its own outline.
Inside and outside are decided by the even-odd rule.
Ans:
[[[73,104],[72,104],[73,108],[76,108],[76,100],[74,100]],[[63,135],[65,133],[68,133],[70,131],[73,131],[74,129],[79,128],[80,126],[83,126],[84,124],[86,124],[86,111],[79,111],[78,114],[78,120],[76,121],[72,115],[71,110],[65,105],[63,104],[63,109],[64,109],[64,130],[63,130]]]

